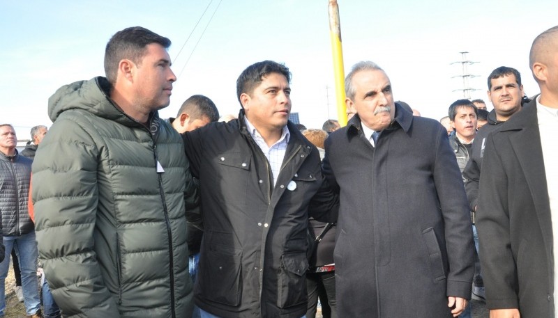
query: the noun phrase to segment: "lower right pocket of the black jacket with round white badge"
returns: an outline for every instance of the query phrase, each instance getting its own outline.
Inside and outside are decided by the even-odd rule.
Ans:
[[[306,253],[292,252],[281,255],[278,274],[277,306],[288,308],[308,301],[306,292]]]

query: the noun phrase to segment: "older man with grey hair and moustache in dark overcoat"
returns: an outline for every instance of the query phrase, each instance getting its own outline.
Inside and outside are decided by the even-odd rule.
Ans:
[[[471,295],[474,244],[446,129],[393,102],[372,62],[345,79],[346,127],[326,139],[324,174],[340,193],[339,317],[457,317]]]

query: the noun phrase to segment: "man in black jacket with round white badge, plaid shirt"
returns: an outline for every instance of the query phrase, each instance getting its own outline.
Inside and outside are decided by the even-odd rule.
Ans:
[[[236,81],[237,120],[183,135],[204,223],[195,302],[202,317],[306,313],[306,228],[322,185],[318,150],[288,121],[285,65],[250,65]]]

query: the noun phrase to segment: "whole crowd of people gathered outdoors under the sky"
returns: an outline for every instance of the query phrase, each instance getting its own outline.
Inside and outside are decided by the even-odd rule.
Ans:
[[[123,29],[105,77],[59,88],[25,150],[0,125],[0,292],[13,255],[28,317],[472,317],[472,297],[557,316],[558,26],[532,43],[532,99],[497,67],[492,111],[432,120],[361,61],[347,125],[322,129],[288,120],[274,61],[240,74],[238,116],[193,95],[160,118],[170,45]]]

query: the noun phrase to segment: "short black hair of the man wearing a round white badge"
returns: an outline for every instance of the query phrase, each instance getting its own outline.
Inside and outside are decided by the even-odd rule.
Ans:
[[[274,61],[262,61],[254,63],[243,70],[239,78],[236,79],[236,97],[242,106],[240,95],[246,93],[252,94],[256,86],[264,80],[264,77],[271,73],[282,74],[287,78],[287,83],[291,82],[291,72],[289,67]]]

